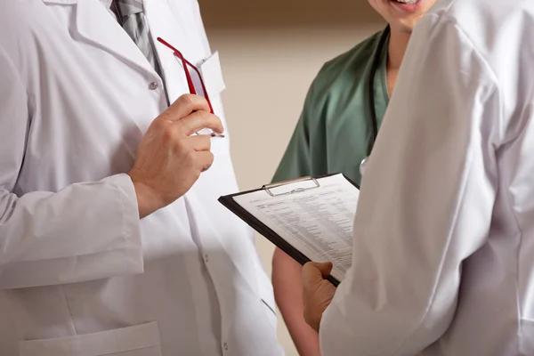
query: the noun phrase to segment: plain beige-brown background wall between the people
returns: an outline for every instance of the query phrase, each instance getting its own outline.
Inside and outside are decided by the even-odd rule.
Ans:
[[[320,66],[382,28],[367,0],[199,0],[223,63],[231,153],[240,188],[270,182]],[[272,245],[256,239],[271,275]],[[287,356],[295,347],[279,319]]]

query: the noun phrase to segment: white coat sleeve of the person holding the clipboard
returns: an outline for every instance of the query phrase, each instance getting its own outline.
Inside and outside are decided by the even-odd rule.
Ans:
[[[321,321],[323,356],[414,356],[449,328],[462,262],[490,230],[499,106],[455,21],[421,20],[362,182],[352,269]]]

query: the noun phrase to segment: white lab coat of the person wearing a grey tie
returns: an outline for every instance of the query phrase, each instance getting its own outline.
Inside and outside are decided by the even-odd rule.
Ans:
[[[197,1],[145,5],[151,36],[210,57]],[[183,69],[156,48],[174,101]],[[99,0],[0,5],[2,356],[283,353],[253,233],[217,202],[238,190],[228,139],[185,197],[138,219],[125,172],[164,109],[161,78]]]

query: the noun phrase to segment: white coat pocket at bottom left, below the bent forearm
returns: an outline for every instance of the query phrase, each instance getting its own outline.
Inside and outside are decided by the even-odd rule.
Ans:
[[[20,356],[161,356],[158,323],[20,342]]]

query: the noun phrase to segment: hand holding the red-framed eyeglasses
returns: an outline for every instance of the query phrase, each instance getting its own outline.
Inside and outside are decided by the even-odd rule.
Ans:
[[[182,197],[212,166],[210,136],[194,135],[205,128],[223,134],[223,123],[209,111],[206,99],[186,94],[150,124],[128,172],[141,218]]]

